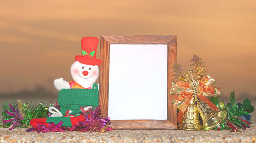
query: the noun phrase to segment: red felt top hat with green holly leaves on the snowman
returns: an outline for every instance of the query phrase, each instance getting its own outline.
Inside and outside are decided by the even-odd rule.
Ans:
[[[82,38],[82,55],[77,55],[75,61],[86,65],[100,65],[102,61],[96,59],[96,51],[99,39],[96,37],[83,37]]]

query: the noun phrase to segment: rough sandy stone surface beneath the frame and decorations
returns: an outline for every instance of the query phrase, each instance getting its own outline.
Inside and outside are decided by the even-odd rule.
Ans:
[[[26,132],[0,128],[0,142],[255,142],[256,127],[239,132],[184,130],[113,130],[98,132]]]

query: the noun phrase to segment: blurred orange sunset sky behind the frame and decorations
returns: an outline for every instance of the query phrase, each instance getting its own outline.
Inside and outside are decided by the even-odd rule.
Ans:
[[[82,37],[125,34],[177,35],[183,69],[195,53],[223,96],[256,96],[255,1],[2,1],[0,19],[0,93],[57,93]]]

